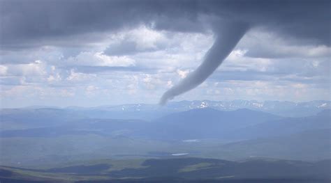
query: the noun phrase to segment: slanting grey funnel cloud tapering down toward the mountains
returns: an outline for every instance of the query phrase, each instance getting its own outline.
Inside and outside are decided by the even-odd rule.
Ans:
[[[213,31],[216,38],[212,47],[207,51],[203,63],[177,85],[166,91],[159,104],[164,105],[175,96],[186,93],[203,83],[221,65],[248,29],[249,25],[243,22],[228,22],[215,26]]]

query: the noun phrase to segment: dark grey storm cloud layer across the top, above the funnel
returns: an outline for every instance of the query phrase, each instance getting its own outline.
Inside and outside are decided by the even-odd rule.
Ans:
[[[1,1],[1,48],[70,44],[62,38],[147,24],[205,31],[216,16],[330,45],[330,1]],[[272,41],[272,40],[270,40]]]

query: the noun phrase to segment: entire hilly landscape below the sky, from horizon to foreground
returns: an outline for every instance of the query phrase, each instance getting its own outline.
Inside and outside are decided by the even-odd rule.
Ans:
[[[321,102],[307,102],[314,113],[288,117],[267,113],[262,106],[221,111],[215,107],[218,102],[186,103],[174,102],[166,109],[147,104],[1,109],[0,180],[330,180],[328,105],[318,108]]]

